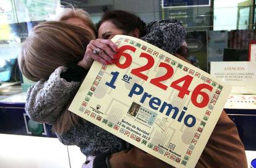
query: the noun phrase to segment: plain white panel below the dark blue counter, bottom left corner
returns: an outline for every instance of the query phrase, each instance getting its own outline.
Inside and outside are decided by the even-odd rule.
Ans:
[[[81,167],[86,158],[80,149],[76,146],[68,149],[57,138],[0,134],[0,167]]]

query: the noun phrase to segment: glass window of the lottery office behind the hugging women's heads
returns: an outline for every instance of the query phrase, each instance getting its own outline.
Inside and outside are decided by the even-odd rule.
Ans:
[[[190,61],[208,72],[210,61],[229,60],[232,53],[240,53],[232,56],[233,60],[247,59],[249,41],[256,36],[252,0],[1,0],[0,83],[22,80],[15,72],[16,59],[28,32],[69,4],[85,9],[95,23],[112,9],[132,12],[146,23],[179,19],[187,29]]]

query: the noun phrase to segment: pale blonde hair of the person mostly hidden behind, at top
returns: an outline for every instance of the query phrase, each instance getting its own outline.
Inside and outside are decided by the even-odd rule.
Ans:
[[[83,9],[76,9],[73,6],[65,7],[59,14],[55,15],[51,20],[65,22],[66,20],[71,18],[77,18],[82,20],[83,23],[85,23],[85,25],[87,25],[89,28],[93,30],[95,36],[97,36],[98,31],[96,29],[95,24],[90,19],[90,15],[88,14],[88,12],[84,11]]]

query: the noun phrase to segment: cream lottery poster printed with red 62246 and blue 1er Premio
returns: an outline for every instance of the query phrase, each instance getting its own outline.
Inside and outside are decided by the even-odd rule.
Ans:
[[[95,61],[69,111],[174,167],[195,167],[231,88],[145,41],[113,41],[119,61]]]

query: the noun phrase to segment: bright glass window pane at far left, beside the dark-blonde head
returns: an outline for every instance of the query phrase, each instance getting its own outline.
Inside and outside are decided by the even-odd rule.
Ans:
[[[20,83],[30,86],[31,83],[19,72],[17,56],[22,42],[28,32],[38,22],[56,14],[60,7],[59,0],[0,1],[0,94],[13,94],[22,91]],[[29,83],[27,85],[26,83]],[[18,86],[17,86],[18,85]],[[19,88],[19,89],[17,89]],[[2,98],[4,96],[0,96]]]

